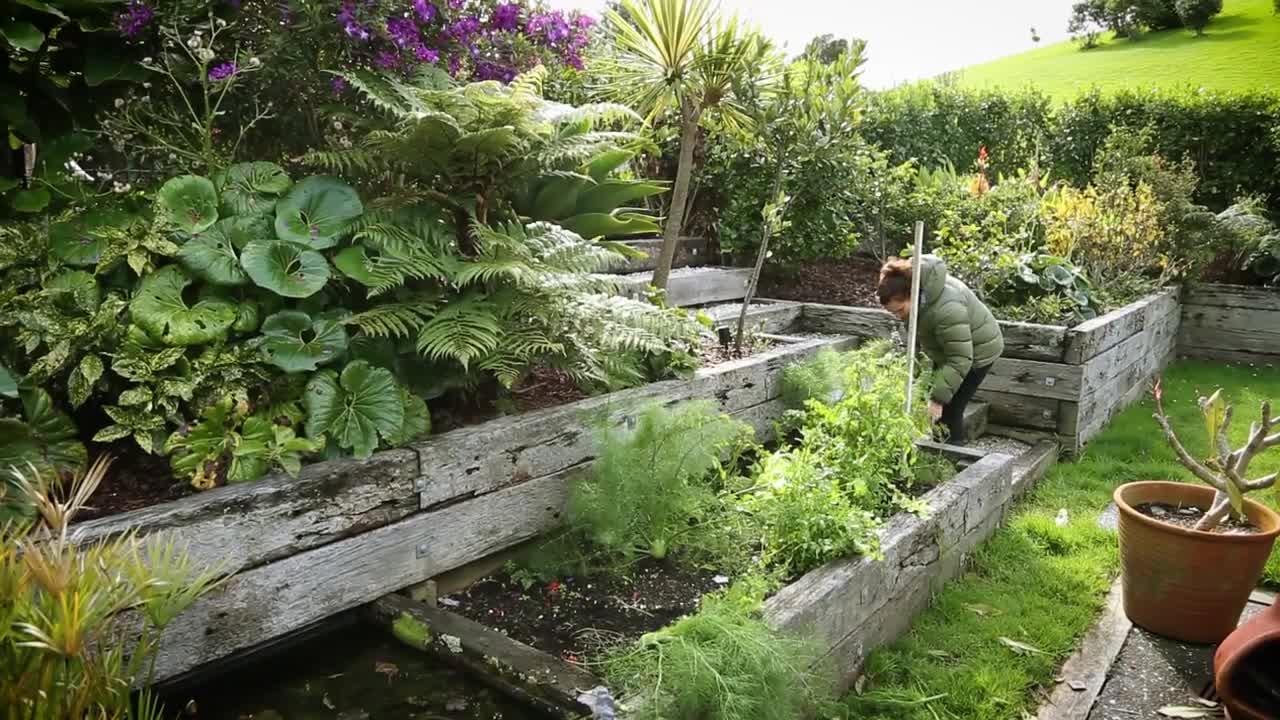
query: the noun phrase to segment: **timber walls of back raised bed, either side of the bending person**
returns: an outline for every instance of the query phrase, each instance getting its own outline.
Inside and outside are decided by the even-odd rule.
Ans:
[[[1056,436],[1080,450],[1121,409],[1142,396],[1174,357],[1179,292],[1164,290],[1074,328],[1001,322],[1005,354],[978,398],[988,429],[1021,439]],[[855,337],[888,337],[905,327],[883,310],[806,304],[801,327]]]

